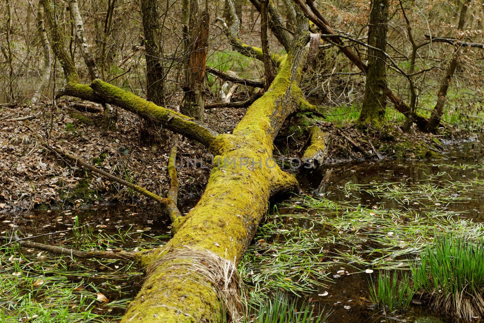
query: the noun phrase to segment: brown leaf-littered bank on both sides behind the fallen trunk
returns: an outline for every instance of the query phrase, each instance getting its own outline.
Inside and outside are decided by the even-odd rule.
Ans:
[[[160,196],[166,194],[169,188],[166,169],[171,148],[170,135],[153,130],[145,121],[121,109],[116,111],[116,129],[107,130],[101,106],[90,105],[89,109],[96,111],[94,113],[83,109],[86,110],[86,107],[67,100],[59,101],[54,109],[51,104],[2,108],[0,212],[148,202],[132,190],[46,150],[27,125],[44,140],[48,135],[47,142],[51,147],[74,154]],[[219,132],[230,132],[245,110],[210,109],[207,110],[205,123]],[[35,116],[15,121],[15,118],[32,115]],[[410,134],[403,134],[396,125],[388,127],[384,133],[376,133],[361,131],[350,124],[322,120],[317,123],[323,131],[331,133],[326,159],[329,165],[365,158],[439,158],[445,150],[440,139],[452,136],[430,136],[415,129]],[[291,120],[288,124],[292,124]],[[274,155],[301,157],[308,142],[304,126],[288,126],[276,138]],[[185,138],[179,145],[179,155],[192,160],[206,154],[205,147],[192,140]],[[179,169],[182,212],[187,212],[187,208],[198,200],[209,175],[210,169],[206,168]]]

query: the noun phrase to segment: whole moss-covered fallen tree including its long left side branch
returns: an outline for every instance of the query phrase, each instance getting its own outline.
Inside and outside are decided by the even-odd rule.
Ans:
[[[41,1],[48,4],[48,0]],[[47,15],[54,21],[52,12]],[[101,80],[94,80],[90,87],[78,84],[74,64],[61,47],[61,31],[53,28],[52,36],[59,41],[54,51],[68,79],[61,94],[130,110],[201,142],[215,155],[197,205],[172,224],[175,234],[165,246],[142,256],[146,279],[121,322],[219,322],[220,304],[232,318],[240,318],[240,303],[230,306],[228,301],[240,294],[233,275],[236,265],[267,213],[269,198],[298,188],[296,179],[272,157],[273,140],[287,117],[309,106],[298,87],[307,56],[308,22],[299,12],[297,20],[298,31],[288,54],[272,55],[279,68],[274,81],[232,134],[219,134]],[[238,33],[238,28],[232,30],[227,28],[228,36]],[[242,44],[238,37],[229,39],[245,54],[262,56],[260,48]]]

